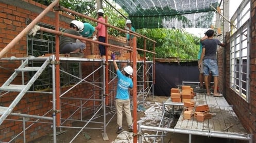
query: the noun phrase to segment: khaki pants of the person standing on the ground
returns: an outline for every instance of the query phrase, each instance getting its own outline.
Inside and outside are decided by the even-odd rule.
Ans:
[[[122,127],[123,109],[126,115],[126,121],[128,126],[132,125],[130,99],[127,99],[127,100],[116,99],[115,106],[116,106],[116,114],[117,114],[117,125],[119,127]]]

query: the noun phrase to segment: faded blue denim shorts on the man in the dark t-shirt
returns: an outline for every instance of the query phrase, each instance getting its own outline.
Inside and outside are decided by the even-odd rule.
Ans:
[[[203,75],[209,76],[210,72],[212,76],[219,76],[217,60],[203,59]]]

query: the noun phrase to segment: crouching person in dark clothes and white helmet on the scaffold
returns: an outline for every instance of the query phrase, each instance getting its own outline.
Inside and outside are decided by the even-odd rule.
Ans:
[[[76,36],[81,36],[78,33],[78,21],[72,21],[70,23],[70,29],[65,30],[64,33],[72,34]],[[81,42],[76,42],[77,38],[61,36],[60,37],[60,53],[82,53],[86,49],[86,40],[80,40]]]

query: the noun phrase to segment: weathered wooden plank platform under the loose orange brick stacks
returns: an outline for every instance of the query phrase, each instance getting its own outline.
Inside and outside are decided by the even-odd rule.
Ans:
[[[232,107],[227,103],[224,97],[214,97],[206,95],[206,93],[197,93],[194,97],[194,101],[195,106],[208,105],[210,113],[215,114],[215,116],[204,121],[197,121],[193,117],[192,119],[183,119],[182,112],[174,129],[186,129],[207,133],[218,132],[223,134],[248,134],[240,120],[237,118]],[[178,103],[172,103],[172,100],[169,98],[165,104],[175,105]],[[183,103],[181,103],[181,105],[182,104]]]

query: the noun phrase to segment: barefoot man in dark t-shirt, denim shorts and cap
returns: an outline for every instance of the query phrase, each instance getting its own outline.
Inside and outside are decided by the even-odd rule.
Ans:
[[[214,37],[214,30],[208,30],[206,32],[207,39],[202,42],[202,53],[199,61],[199,68],[203,68],[203,75],[204,75],[204,84],[206,84],[207,95],[211,95],[208,83],[208,76],[210,71],[212,76],[214,77],[214,90],[213,96],[219,97],[223,96],[222,94],[218,93],[218,63],[217,63],[217,47],[218,45],[224,47],[225,44],[221,43],[218,39]],[[203,66],[202,66],[203,64]]]

